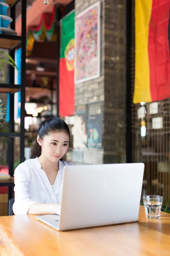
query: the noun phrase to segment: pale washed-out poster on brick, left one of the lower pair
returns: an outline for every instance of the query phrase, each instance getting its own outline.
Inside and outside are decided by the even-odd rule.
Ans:
[[[74,148],[87,148],[87,105],[79,105],[75,108],[74,119]]]

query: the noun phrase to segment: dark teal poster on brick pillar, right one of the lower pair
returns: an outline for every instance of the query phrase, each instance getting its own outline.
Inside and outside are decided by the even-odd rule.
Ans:
[[[103,103],[88,105],[88,148],[102,147]]]

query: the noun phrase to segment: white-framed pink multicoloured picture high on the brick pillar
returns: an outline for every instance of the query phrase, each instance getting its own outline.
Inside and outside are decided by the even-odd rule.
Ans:
[[[75,83],[100,76],[100,2],[76,17]]]

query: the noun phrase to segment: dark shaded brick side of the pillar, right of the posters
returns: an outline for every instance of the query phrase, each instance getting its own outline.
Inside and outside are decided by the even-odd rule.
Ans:
[[[105,0],[104,23],[104,162],[126,161],[125,0]]]

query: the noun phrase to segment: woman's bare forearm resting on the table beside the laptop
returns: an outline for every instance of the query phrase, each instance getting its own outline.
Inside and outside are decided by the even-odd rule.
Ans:
[[[28,209],[27,214],[45,215],[45,214],[58,214],[60,215],[60,204],[32,204]]]

